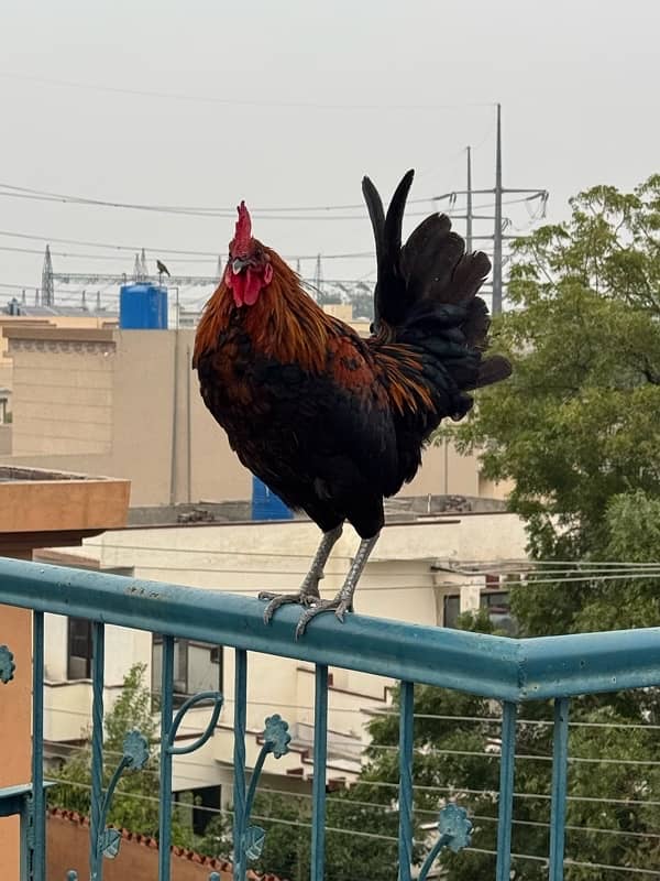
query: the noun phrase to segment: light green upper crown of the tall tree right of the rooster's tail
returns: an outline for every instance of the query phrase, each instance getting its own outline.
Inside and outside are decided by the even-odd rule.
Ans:
[[[657,175],[582,193],[566,224],[515,246],[514,307],[495,329],[514,374],[452,434],[514,481],[538,556],[592,554],[613,496],[660,492],[659,230]]]

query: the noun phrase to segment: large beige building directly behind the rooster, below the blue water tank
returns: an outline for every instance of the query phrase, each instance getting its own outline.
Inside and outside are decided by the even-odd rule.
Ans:
[[[13,393],[0,461],[128,478],[133,507],[250,499],[251,475],[199,395],[194,330],[6,324],[3,335]],[[428,494],[502,496],[448,445],[430,447],[402,491]]]

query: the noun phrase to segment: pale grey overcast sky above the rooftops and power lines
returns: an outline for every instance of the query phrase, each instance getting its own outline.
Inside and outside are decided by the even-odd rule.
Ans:
[[[501,101],[505,185],[549,189],[549,217],[560,219],[581,188],[629,188],[660,171],[659,34],[658,0],[3,0],[0,182],[286,208],[358,203],[365,173],[388,196],[416,167],[414,197],[430,197],[464,187],[469,143],[474,186],[493,186]],[[529,220],[521,205],[505,213],[518,228]],[[365,218],[330,219],[345,211],[254,214],[255,235],[284,254],[372,248]],[[3,232],[221,252],[232,228],[0,196]],[[0,284],[38,284],[41,254],[3,249],[43,246],[0,236]],[[131,253],[52,247],[89,255],[55,257],[59,271],[132,268]],[[212,261],[166,262],[213,271]],[[356,278],[373,264],[323,269]],[[11,293],[0,287],[0,303]]]

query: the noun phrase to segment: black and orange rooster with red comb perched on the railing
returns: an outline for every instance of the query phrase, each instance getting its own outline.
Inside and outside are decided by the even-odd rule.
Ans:
[[[327,315],[284,260],[253,238],[244,203],[197,329],[193,367],[232,448],[323,533],[297,592],[260,595],[268,600],[266,623],[284,603],[304,607],[296,638],[321,612],[343,621],[352,611],[384,498],[415,477],[440,421],[468,413],[469,392],[510,373],[506,359],[484,355],[490,320],[476,293],[488,258],[466,254],[449,218],[437,214],[402,246],[413,176],[404,176],[387,214],[369,177],[362,184],[377,260],[369,339]],[[345,521],[360,547],[341,590],[321,599],[323,567]]]

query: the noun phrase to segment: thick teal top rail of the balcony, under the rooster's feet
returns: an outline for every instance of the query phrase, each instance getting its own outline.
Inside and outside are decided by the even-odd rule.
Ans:
[[[0,558],[0,603],[167,633],[503,700],[660,685],[660,628],[514,640],[366,616],[263,622],[254,598]]]

